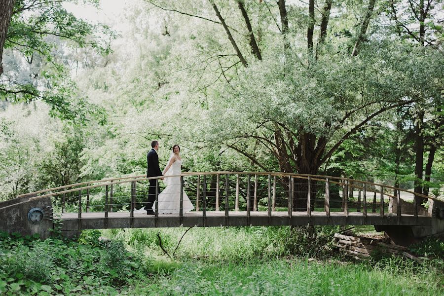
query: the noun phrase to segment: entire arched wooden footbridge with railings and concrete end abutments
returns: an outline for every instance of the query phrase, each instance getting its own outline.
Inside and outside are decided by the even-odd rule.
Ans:
[[[375,225],[396,242],[444,231],[444,202],[389,185],[320,175],[272,172],[193,172],[177,182],[177,214],[137,211],[148,180],[130,176],[60,186],[0,202],[0,230],[67,236],[83,229],[180,226]],[[182,190],[179,190],[182,188]],[[184,192],[194,210],[183,209]],[[405,242],[404,242],[405,243]]]

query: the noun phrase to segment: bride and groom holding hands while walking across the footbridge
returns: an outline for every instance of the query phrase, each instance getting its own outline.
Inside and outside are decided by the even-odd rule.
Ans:
[[[157,155],[157,150],[159,149],[159,142],[151,142],[151,150],[147,154],[147,178],[149,177],[159,177],[159,176],[172,176],[181,174],[182,157],[181,148],[179,145],[174,145],[171,151],[170,159],[168,164],[163,170],[160,171],[159,167],[159,156]],[[159,214],[179,214],[180,211],[180,196],[181,196],[181,181],[180,177],[169,177],[160,178],[164,180],[167,185],[166,188],[157,196]],[[188,196],[184,190],[184,213],[189,212],[194,209],[193,204],[189,200]],[[156,180],[149,180],[148,189],[148,202],[140,210],[135,211],[136,214],[142,214],[147,211],[147,215],[154,215],[155,202],[156,199]]]

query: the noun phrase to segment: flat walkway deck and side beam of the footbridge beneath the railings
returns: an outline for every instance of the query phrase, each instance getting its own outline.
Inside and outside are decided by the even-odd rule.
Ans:
[[[330,217],[326,212],[312,212],[308,217],[306,212],[293,212],[288,217],[288,212],[272,212],[268,217],[267,212],[207,212],[207,217],[202,217],[202,212],[179,214],[159,214],[159,217],[147,214],[134,214],[130,212],[109,212],[108,218],[105,213],[82,213],[78,219],[77,213],[64,213],[56,220],[63,221],[62,230],[80,229],[105,229],[105,228],[151,228],[151,227],[180,227],[180,226],[278,226],[278,225],[431,225],[431,218],[426,216],[414,217],[413,215],[402,215],[386,213],[381,217],[379,213],[349,213],[345,217],[344,212],[331,212]]]

